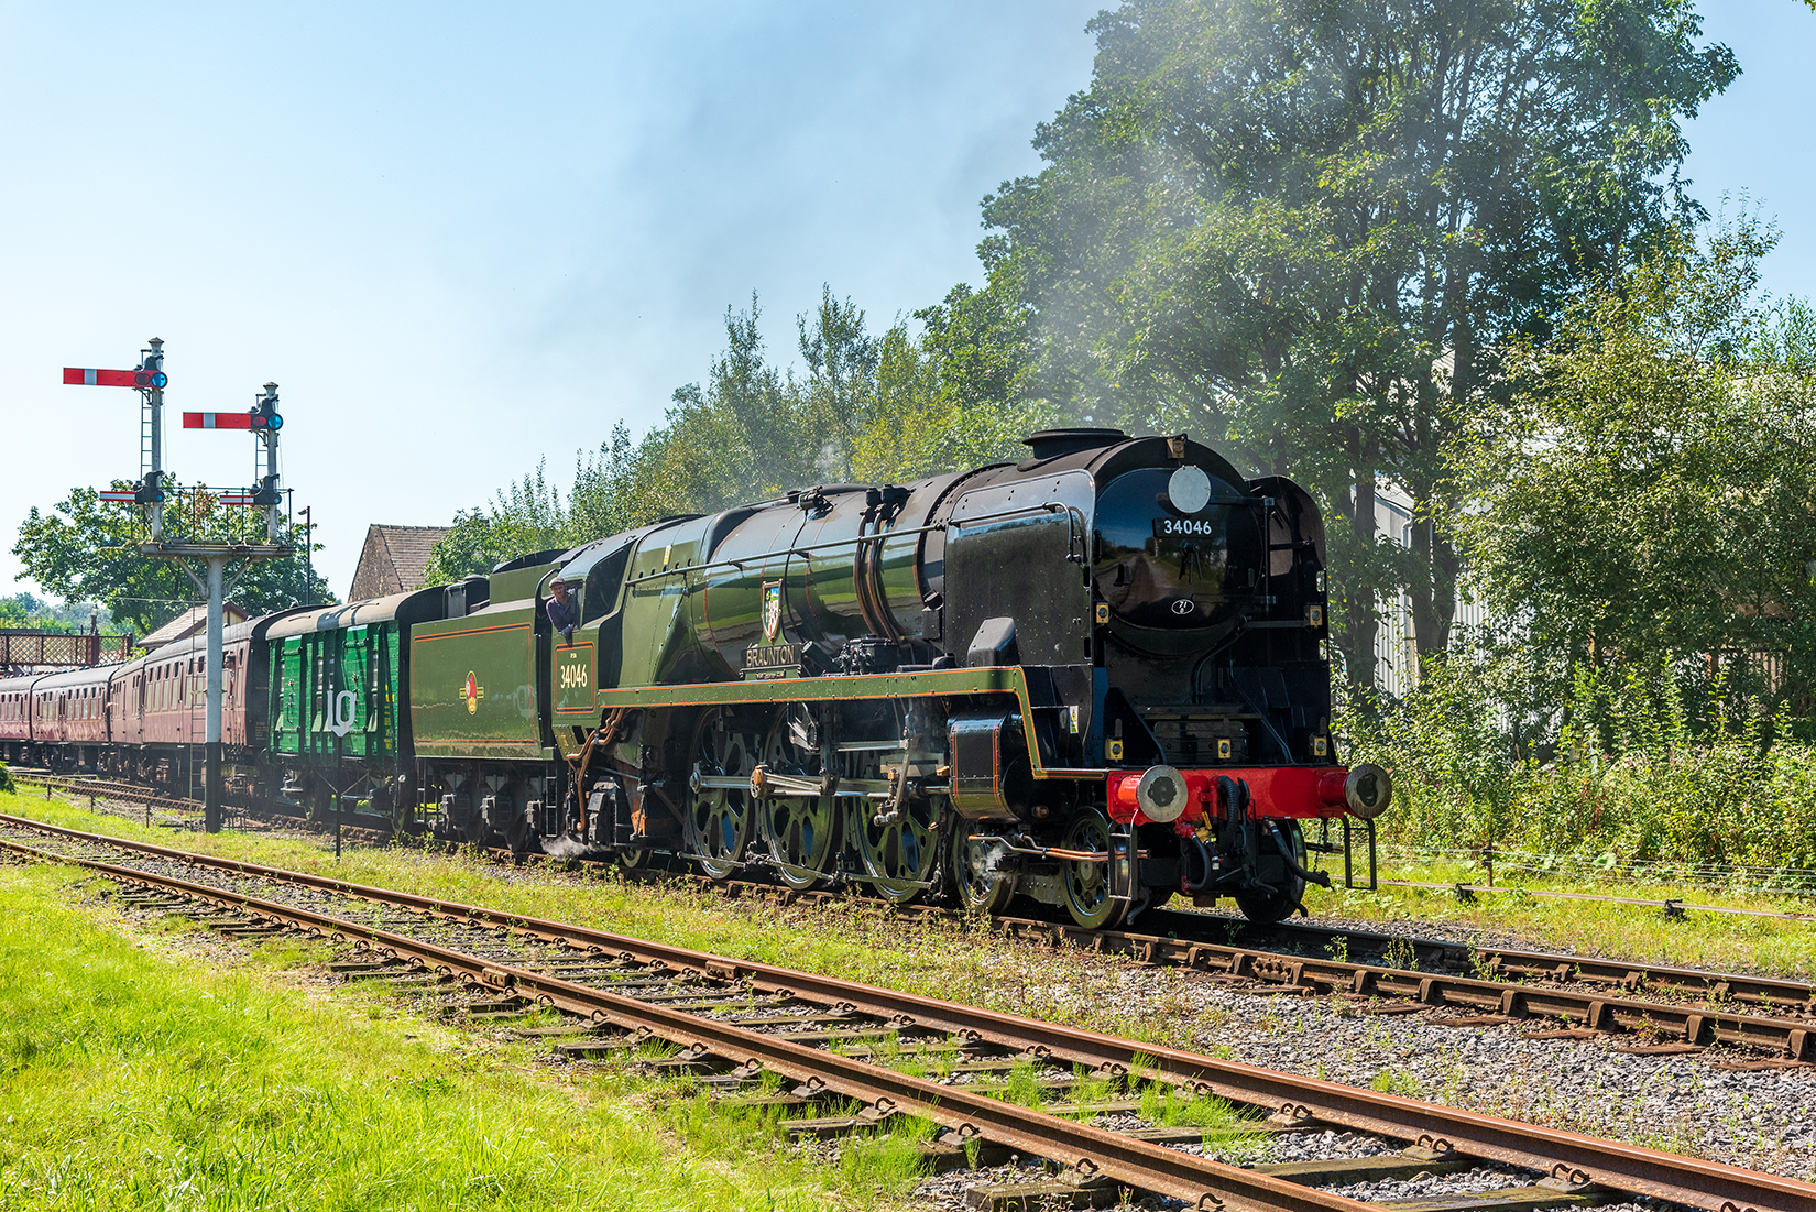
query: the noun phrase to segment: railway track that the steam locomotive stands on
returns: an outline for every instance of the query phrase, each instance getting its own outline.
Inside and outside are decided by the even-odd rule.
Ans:
[[[45,780],[45,785],[96,794],[91,780]],[[109,789],[104,794],[134,790],[133,785]],[[501,852],[501,858],[512,856]],[[632,872],[632,878],[737,889],[783,901],[848,896],[844,890],[794,892],[768,883],[656,870]],[[953,916],[928,905],[901,912]],[[1807,981],[1320,925],[1255,927],[1164,909],[1142,914],[1140,930],[1082,930],[1071,923],[1010,916],[993,923],[1010,938],[1050,947],[1124,954],[1248,987],[1344,996],[1355,999],[1362,1014],[1424,1014],[1455,1027],[1525,1021],[1540,1025],[1540,1038],[1625,1036],[1618,1047],[1640,1054],[1743,1048],[1745,1056],[1729,1061],[1740,1068],[1816,1061],[1816,985]]]

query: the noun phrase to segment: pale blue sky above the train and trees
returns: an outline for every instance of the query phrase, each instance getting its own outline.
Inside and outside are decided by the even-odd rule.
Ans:
[[[979,200],[1090,80],[1079,0],[109,5],[0,0],[0,594],[31,505],[136,476],[136,394],[283,396],[285,480],[345,594],[370,522],[445,523],[657,423],[752,291],[772,354],[823,282],[883,327],[979,276]],[[1816,294],[1816,15],[1705,4],[1743,76],[1691,129]],[[252,438],[174,431],[185,480]],[[31,585],[20,585],[31,589]]]

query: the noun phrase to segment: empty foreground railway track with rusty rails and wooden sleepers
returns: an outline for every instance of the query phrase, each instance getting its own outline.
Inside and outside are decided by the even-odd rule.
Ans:
[[[792,1136],[915,1116],[941,1128],[926,1147],[935,1167],[1010,1154],[1055,1163],[1041,1190],[977,1188],[973,1207],[1100,1207],[1133,1188],[1242,1210],[1524,1212],[1647,1196],[1711,1212],[1816,1212],[1816,1187],[1787,1177],[605,930],[29,825],[4,818],[0,850],[84,867],[127,889],[133,905],[183,912],[225,934],[336,939],[352,952],[334,965],[343,976],[449,998],[469,1019],[508,1023],[552,1008],[563,1025],[525,1034],[550,1038],[570,1058],[661,1039],[677,1052],[652,1065],[696,1074],[719,1098],[781,1108]],[[888,1067],[901,1058],[944,1067],[943,1076]],[[1001,1098],[1015,1070],[1033,1074],[1050,1110]],[[783,1088],[774,1078],[765,1085],[766,1074]],[[1068,1105],[1081,1076],[1111,1094]],[[1082,1119],[1139,1108],[1144,1085],[1253,1108],[1248,1127],[1258,1132],[1346,1128],[1386,1145],[1246,1168],[1189,1152],[1202,1130],[1113,1132]],[[835,1099],[863,1108],[821,1114]],[[1416,1205],[1331,1190],[1484,1170],[1500,1179],[1491,1190]]]

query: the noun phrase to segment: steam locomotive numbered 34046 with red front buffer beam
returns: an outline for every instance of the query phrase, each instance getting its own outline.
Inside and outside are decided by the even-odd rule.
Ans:
[[[1322,879],[1304,823],[1373,820],[1391,794],[1333,752],[1313,500],[1184,436],[1062,429],[1028,447],[494,576],[494,603],[499,580],[534,578],[519,609],[554,580],[576,591],[577,631],[532,660],[567,765],[447,750],[449,810],[485,800],[523,834],[712,878],[857,879],[988,912],[1026,896],[1084,927],[1175,894],[1293,912]],[[427,627],[479,643],[494,621]],[[421,694],[432,665],[421,647],[414,661]],[[412,710],[434,736],[421,698]]]

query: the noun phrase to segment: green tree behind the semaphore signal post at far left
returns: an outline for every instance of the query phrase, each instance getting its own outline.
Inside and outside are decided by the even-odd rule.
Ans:
[[[127,483],[114,483],[127,489]],[[182,489],[173,482],[167,489]],[[192,507],[165,512],[165,536],[229,538],[265,541],[263,514],[222,505],[209,492],[173,492]],[[287,527],[280,538],[301,545],[301,527]],[[138,634],[156,631],[182,614],[198,594],[173,560],[138,554],[143,518],[136,509],[102,503],[94,489],[71,489],[53,512],[36,507],[18,529],[13,554],[25,574],[47,592],[65,600],[93,600],[105,605],[116,623]],[[234,601],[252,614],[269,614],[311,601],[334,601],[327,581],[316,576],[305,583],[301,552],[289,560],[254,560],[232,592]]]

